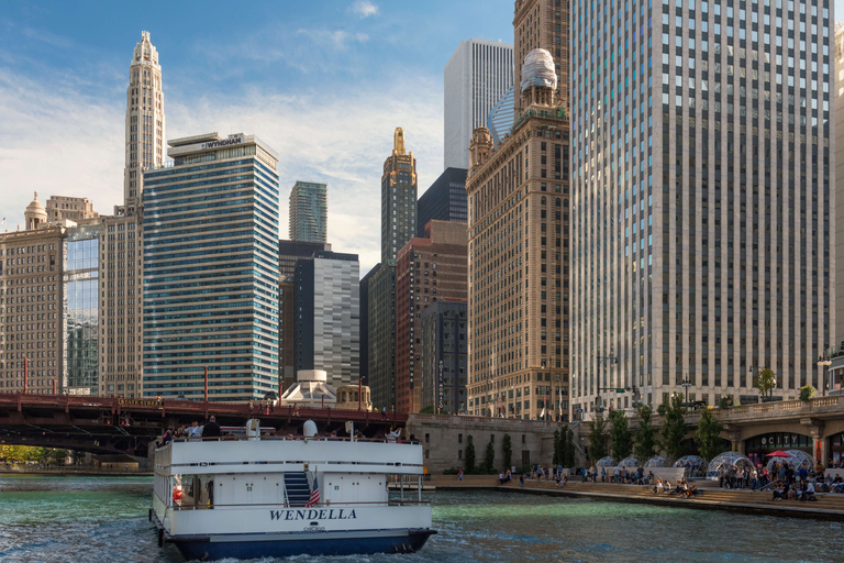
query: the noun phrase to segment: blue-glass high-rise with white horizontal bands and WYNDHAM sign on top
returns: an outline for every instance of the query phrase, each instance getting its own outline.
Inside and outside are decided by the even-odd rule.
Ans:
[[[144,396],[201,398],[207,367],[211,400],[262,399],[278,390],[278,156],[242,133],[169,145],[174,165],[144,174]]]

